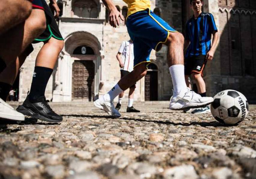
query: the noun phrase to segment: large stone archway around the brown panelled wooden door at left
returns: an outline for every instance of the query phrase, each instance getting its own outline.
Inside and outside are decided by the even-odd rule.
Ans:
[[[86,47],[89,51],[93,51],[93,53],[77,53],[77,49],[82,50],[83,48],[83,50],[85,50],[84,48]],[[76,52],[74,53],[74,51]],[[57,80],[56,88],[53,91],[53,101],[71,101],[77,99],[93,101],[95,98],[98,98],[101,79],[100,51],[101,44],[98,38],[89,32],[77,31],[69,34],[65,38],[64,50],[58,60]],[[74,75],[74,73],[77,73],[79,70],[81,74]],[[77,83],[74,84],[74,81]],[[86,81],[92,83],[90,84],[91,86],[87,84],[83,84],[83,86],[80,85]],[[74,85],[76,85],[76,90],[74,90]],[[89,89],[84,89],[86,86],[88,86]],[[78,90],[80,88],[81,90]],[[84,95],[85,91],[88,92],[86,98]],[[74,92],[76,92],[76,95],[73,94]],[[77,94],[80,93],[83,95],[81,95],[81,97],[77,96]]]

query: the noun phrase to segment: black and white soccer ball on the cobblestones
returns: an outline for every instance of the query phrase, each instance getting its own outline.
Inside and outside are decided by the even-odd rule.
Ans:
[[[249,104],[245,96],[235,90],[227,89],[214,96],[211,104],[212,116],[221,123],[237,124],[248,114]]]

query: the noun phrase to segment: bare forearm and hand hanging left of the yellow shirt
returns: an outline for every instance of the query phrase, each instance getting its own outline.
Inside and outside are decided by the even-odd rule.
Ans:
[[[116,9],[116,6],[111,0],[102,0],[104,5],[110,10],[109,14],[109,23],[112,27],[116,28],[116,25],[119,26],[119,17],[123,21],[125,20],[123,15]]]

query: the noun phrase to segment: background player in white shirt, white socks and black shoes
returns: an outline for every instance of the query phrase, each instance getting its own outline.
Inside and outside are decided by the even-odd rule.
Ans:
[[[119,51],[116,54],[116,58],[119,61],[121,78],[133,71],[134,54],[132,40],[122,42]],[[140,112],[133,107],[133,97],[136,88],[135,84],[129,88],[129,101],[126,112]],[[119,94],[118,103],[116,104],[116,110],[119,110],[121,108],[123,96],[124,91]]]

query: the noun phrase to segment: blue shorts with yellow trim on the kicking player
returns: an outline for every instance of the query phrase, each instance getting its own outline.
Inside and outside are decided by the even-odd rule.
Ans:
[[[150,9],[136,12],[127,18],[127,30],[134,44],[134,67],[149,63],[150,52],[161,50],[170,32],[175,29]]]

